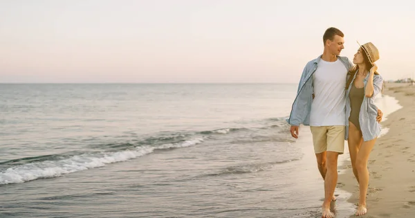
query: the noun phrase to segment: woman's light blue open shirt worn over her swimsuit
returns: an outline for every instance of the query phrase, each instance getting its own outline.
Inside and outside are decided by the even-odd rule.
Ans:
[[[357,73],[356,73],[357,74]],[[356,74],[349,85],[349,89],[346,92],[346,134],[344,134],[344,140],[347,140],[347,136],[349,136],[349,116],[351,112],[350,107],[350,98],[349,93],[351,86],[353,86],[353,82],[356,78]],[[367,80],[369,79],[369,73],[365,80],[363,80],[363,84],[365,84],[365,89],[367,86]],[[362,105],[360,106],[360,113],[359,113],[359,124],[360,129],[362,130],[362,136],[364,141],[372,140],[377,138],[380,134],[380,124],[376,121],[376,116],[378,116],[378,107],[376,107],[374,98],[380,91],[382,90],[383,79],[380,75],[374,75],[374,93],[371,97],[367,98],[366,96],[363,97]]]

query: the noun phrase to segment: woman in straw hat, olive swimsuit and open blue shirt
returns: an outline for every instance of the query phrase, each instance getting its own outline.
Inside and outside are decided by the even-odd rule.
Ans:
[[[360,45],[360,44],[359,44]],[[353,174],[359,183],[360,197],[356,215],[365,215],[366,194],[369,185],[367,161],[376,138],[380,134],[380,124],[376,122],[378,108],[375,96],[382,90],[383,79],[376,72],[374,64],[379,59],[378,48],[371,42],[363,44],[354,55],[347,80],[346,134]]]

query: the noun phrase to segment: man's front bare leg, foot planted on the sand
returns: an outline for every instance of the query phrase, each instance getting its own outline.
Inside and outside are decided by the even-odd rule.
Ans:
[[[330,203],[333,198],[335,186],[338,181],[338,152],[326,152],[326,176],[324,178],[324,202],[322,206],[322,217],[334,217],[333,212],[330,211]]]

